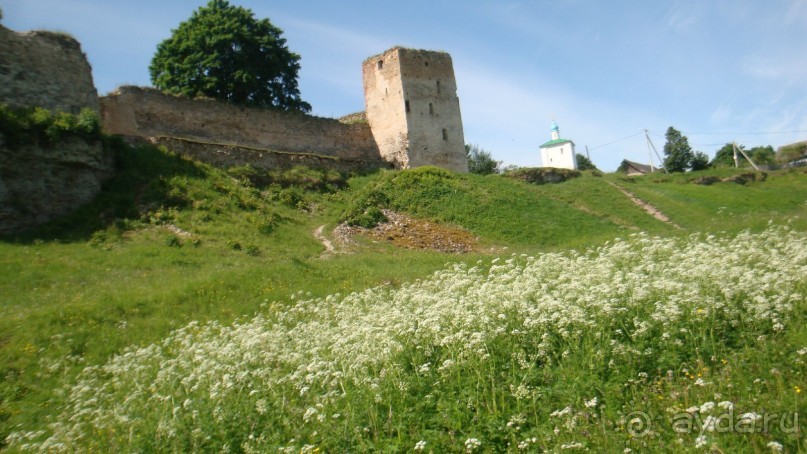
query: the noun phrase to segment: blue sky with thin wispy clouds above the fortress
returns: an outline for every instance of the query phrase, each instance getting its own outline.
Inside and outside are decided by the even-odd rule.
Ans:
[[[150,85],[157,44],[206,0],[0,0],[2,24],[82,44],[100,94]],[[807,140],[807,1],[231,0],[301,55],[313,114],[364,109],[361,63],[395,45],[449,52],[465,140],[540,165],[550,124],[614,170],[673,126],[709,156]],[[654,161],[657,160],[655,156]]]

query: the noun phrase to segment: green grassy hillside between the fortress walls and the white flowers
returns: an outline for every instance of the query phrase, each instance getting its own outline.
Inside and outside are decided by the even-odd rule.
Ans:
[[[486,270],[495,268],[492,260],[499,255],[582,253],[637,232],[664,238],[696,232],[731,236],[745,229],[763,232],[770,223],[807,231],[807,175],[796,171],[771,172],[764,181],[757,174],[745,184],[711,185],[695,180],[734,174],[721,170],[627,179],[586,173],[536,186],[435,168],[351,178],[306,169],[225,172],[152,147],[117,146],[119,174],[94,203],[0,242],[0,440],[43,427],[60,414],[66,396],[59,390],[75,382],[86,366],[105,364],[132,346],[160,342],[191,321],[248,323],[257,313],[297,307],[300,298],[327,306],[329,295],[370,287],[403,292],[408,283],[447,264]],[[624,191],[671,222],[650,216]],[[361,236],[351,244],[339,243],[333,227],[371,208],[467,229],[481,246],[455,255],[396,248]],[[325,248],[314,235],[322,225],[341,253],[323,254]],[[804,291],[803,280],[794,291]],[[802,339],[789,335],[791,343]],[[740,344],[746,348],[746,340]],[[738,347],[736,352],[737,361],[747,360],[745,350]],[[683,355],[680,362],[691,364],[702,357]],[[558,369],[546,373],[559,374],[552,382],[561,386],[559,377],[572,374],[568,368],[578,363],[553,364]],[[557,396],[559,389],[547,393]],[[600,399],[609,392],[597,390]],[[485,424],[494,424],[494,419],[485,419]],[[476,422],[462,424],[467,428]],[[450,427],[446,430],[457,430]],[[541,427],[533,425],[535,433],[546,429]],[[383,443],[376,441],[393,451],[411,449],[390,441],[408,442],[399,430]],[[331,435],[344,437],[342,432]],[[366,443],[364,449],[372,450],[373,442]],[[449,446],[447,440],[442,443]],[[168,446],[194,447],[142,447]]]

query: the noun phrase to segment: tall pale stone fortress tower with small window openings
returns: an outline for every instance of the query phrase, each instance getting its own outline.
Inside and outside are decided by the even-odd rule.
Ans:
[[[457,83],[445,52],[394,47],[362,65],[367,122],[397,168],[468,171]]]

